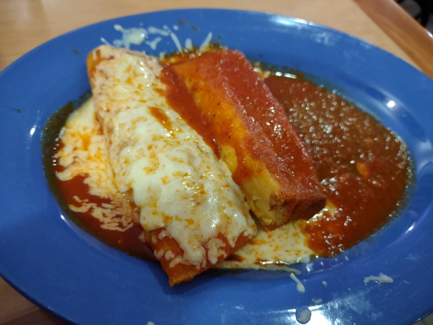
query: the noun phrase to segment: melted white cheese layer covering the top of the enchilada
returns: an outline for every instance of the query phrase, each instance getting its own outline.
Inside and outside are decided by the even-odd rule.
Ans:
[[[139,208],[145,231],[165,228],[192,265],[206,257],[216,263],[224,253],[219,233],[231,247],[244,231],[255,234],[229,168],[168,105],[155,59],[99,50],[112,59],[97,65],[91,81],[117,188]]]

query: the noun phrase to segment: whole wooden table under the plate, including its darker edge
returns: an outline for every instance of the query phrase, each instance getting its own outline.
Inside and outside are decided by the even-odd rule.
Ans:
[[[197,0],[0,0],[0,70],[42,42],[90,23],[207,4]],[[433,78],[431,34],[393,0],[219,0],[214,5],[294,16],[339,29],[394,53]],[[62,323],[0,278],[0,324]]]

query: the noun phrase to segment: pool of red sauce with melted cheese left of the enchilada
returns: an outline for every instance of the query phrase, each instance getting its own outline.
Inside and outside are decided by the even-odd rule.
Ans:
[[[44,166],[52,192],[68,217],[90,234],[116,249],[154,260],[141,226],[132,220],[129,202],[107,179],[107,151],[93,119],[93,105],[87,100],[72,110],[71,104],[65,105],[45,125]]]

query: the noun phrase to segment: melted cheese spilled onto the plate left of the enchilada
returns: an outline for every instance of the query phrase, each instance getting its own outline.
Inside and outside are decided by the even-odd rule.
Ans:
[[[95,118],[91,99],[69,116],[61,132],[61,141],[64,146],[56,153],[56,157],[58,164],[65,169],[56,173],[58,179],[68,181],[75,176],[84,176],[84,184],[89,186],[90,195],[111,201],[110,205],[98,205],[75,195],[77,203],[70,204],[69,208],[75,212],[90,211],[104,229],[125,231],[132,227],[131,205],[114,184],[105,138]]]

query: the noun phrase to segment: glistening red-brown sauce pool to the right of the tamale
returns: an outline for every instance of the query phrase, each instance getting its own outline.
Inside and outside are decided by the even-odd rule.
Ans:
[[[406,146],[369,114],[303,78],[265,80],[304,138],[327,198],[338,209],[310,222],[308,246],[333,256],[384,224],[408,185]]]

